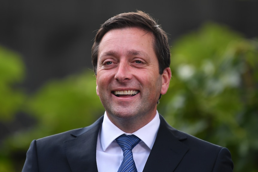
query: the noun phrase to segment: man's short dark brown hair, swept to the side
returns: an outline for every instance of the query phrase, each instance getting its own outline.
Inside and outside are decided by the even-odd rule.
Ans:
[[[164,69],[170,65],[170,50],[168,36],[165,31],[155,22],[147,13],[142,11],[121,13],[104,22],[94,39],[92,45],[92,65],[95,74],[97,74],[98,46],[102,37],[112,29],[138,27],[151,32],[154,37],[154,51],[159,61],[159,73],[163,74]]]

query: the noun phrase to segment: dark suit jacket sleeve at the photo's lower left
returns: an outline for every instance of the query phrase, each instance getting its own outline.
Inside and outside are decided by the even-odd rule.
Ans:
[[[37,145],[36,140],[31,142],[31,145],[26,154],[26,160],[22,169],[22,172],[37,172],[38,168],[38,158],[37,158]]]

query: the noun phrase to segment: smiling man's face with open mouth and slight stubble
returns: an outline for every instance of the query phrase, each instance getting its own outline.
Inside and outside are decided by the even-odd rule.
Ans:
[[[160,93],[166,93],[168,84],[159,74],[153,42],[153,34],[140,28],[114,29],[103,36],[97,95],[111,121],[136,117],[150,121],[155,116]]]

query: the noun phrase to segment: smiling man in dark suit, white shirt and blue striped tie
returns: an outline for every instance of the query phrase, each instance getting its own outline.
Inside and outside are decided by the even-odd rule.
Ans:
[[[148,14],[122,13],[101,25],[92,64],[104,116],[32,141],[23,172],[233,171],[227,148],[180,132],[158,114],[170,52],[166,33]]]

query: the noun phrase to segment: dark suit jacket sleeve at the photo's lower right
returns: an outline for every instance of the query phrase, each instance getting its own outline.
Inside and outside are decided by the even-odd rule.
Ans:
[[[213,172],[232,172],[233,162],[231,159],[231,154],[227,148],[222,148],[218,153],[217,159],[215,161]]]

